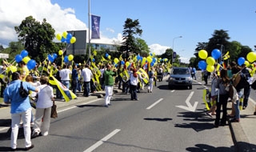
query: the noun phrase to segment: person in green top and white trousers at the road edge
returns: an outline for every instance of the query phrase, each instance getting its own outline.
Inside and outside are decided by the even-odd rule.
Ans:
[[[114,78],[113,76],[116,76],[117,72],[116,70],[111,70],[111,66],[107,65],[106,70],[104,71],[104,84],[105,84],[105,90],[106,90],[106,95],[105,95],[105,106],[108,107],[110,106],[110,99],[112,98],[113,95],[113,85],[114,85]]]

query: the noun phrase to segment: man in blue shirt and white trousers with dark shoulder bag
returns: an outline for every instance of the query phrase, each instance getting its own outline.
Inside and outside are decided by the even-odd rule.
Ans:
[[[31,106],[30,99],[27,96],[22,98],[19,94],[22,77],[18,72],[12,74],[12,82],[4,90],[4,102],[10,103],[11,114],[11,135],[10,135],[10,150],[16,150],[18,138],[19,122],[23,122],[23,130],[25,136],[25,149],[30,150],[34,147],[30,139],[30,120],[31,120]],[[22,86],[27,91],[38,92],[38,88],[32,86],[29,82],[22,82]]]

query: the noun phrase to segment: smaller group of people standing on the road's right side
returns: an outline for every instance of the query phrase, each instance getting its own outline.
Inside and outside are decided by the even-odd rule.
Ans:
[[[240,110],[246,110],[248,106],[252,82],[250,69],[245,64],[238,66],[236,62],[231,62],[227,68],[220,71],[215,68],[209,94],[211,107],[206,112],[210,117],[216,115],[215,127],[225,126],[227,118],[231,118],[231,122],[240,122]],[[227,114],[227,102],[232,102],[230,114]]]

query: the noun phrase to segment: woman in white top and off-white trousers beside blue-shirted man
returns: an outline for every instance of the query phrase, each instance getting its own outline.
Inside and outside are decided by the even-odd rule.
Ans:
[[[46,136],[50,129],[50,114],[54,101],[54,91],[51,86],[47,85],[48,81],[48,77],[42,76],[40,78],[41,86],[38,86],[38,102],[36,106],[32,138],[37,137],[40,133],[42,136]]]

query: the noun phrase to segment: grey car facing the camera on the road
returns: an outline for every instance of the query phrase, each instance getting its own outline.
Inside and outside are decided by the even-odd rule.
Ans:
[[[170,71],[170,78],[168,79],[168,88],[172,89],[177,86],[187,86],[192,89],[192,77],[188,67],[174,67]]]

